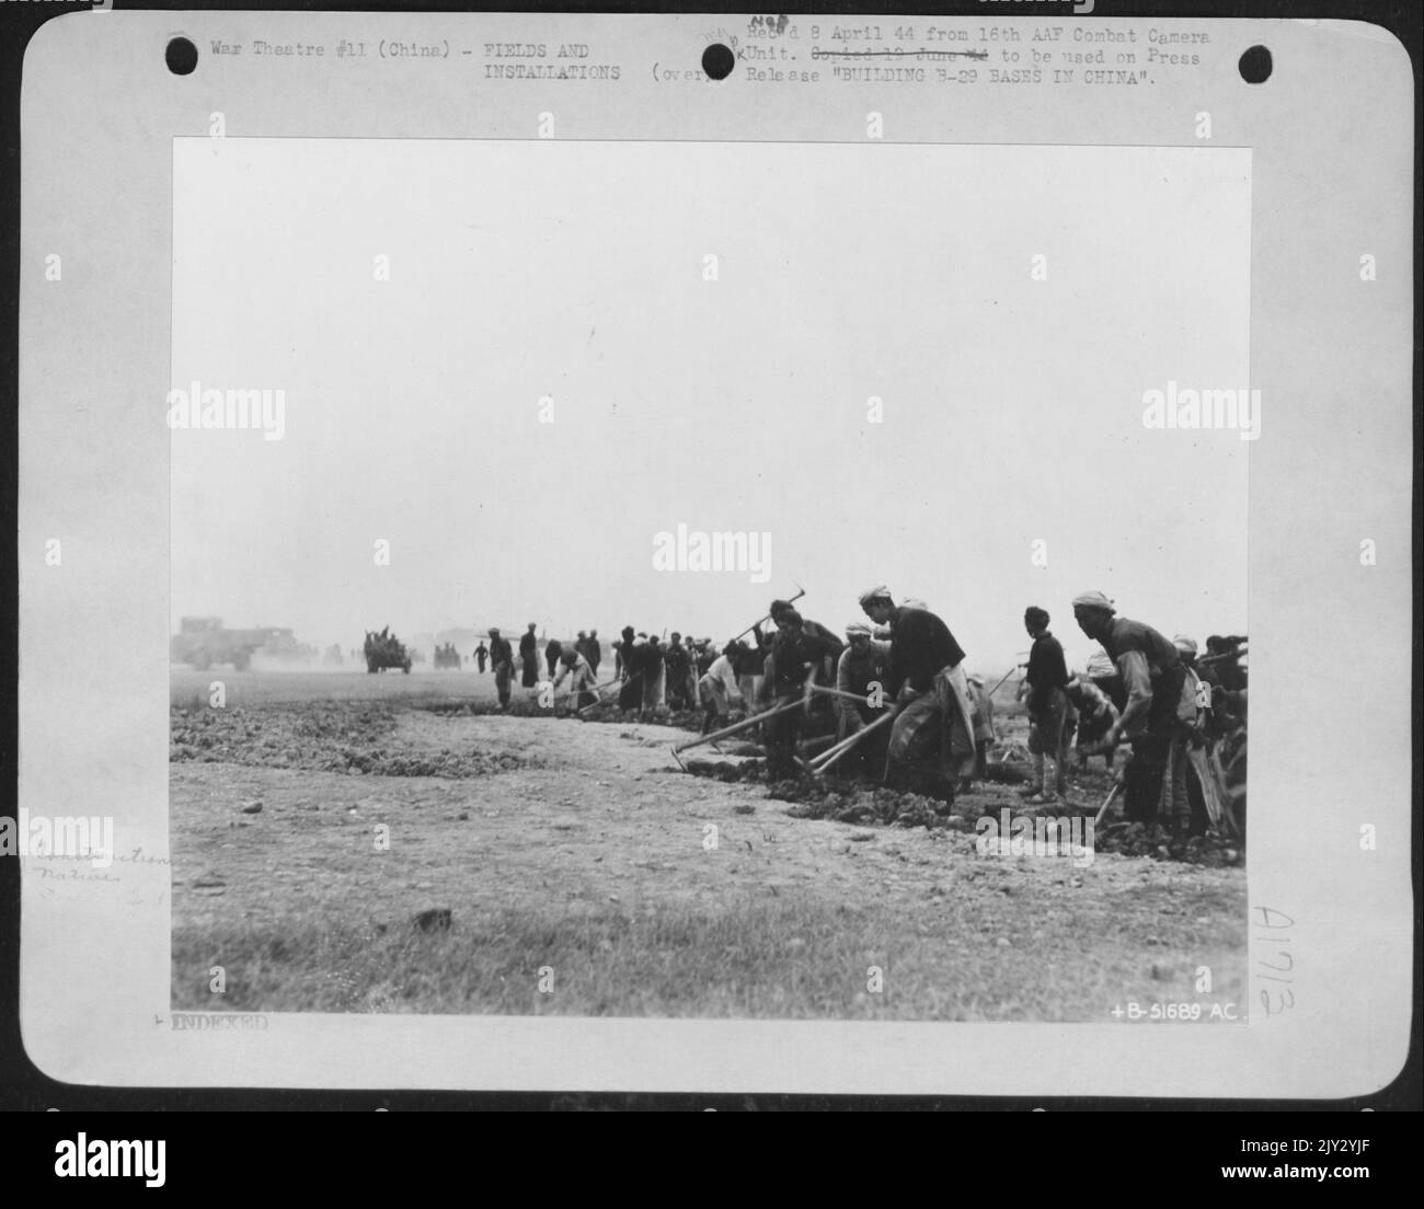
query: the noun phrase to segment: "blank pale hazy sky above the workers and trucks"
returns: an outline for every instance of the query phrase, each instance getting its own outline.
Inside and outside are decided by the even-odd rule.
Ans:
[[[286,402],[282,440],[172,434],[175,628],[725,638],[796,580],[837,628],[874,582],[918,595],[985,672],[1028,604],[1081,665],[1084,588],[1168,635],[1246,631],[1250,446],[1148,430],[1142,394],[1249,384],[1247,151],[174,155],[172,384]],[[770,581],[655,571],[679,523],[769,533]]]

